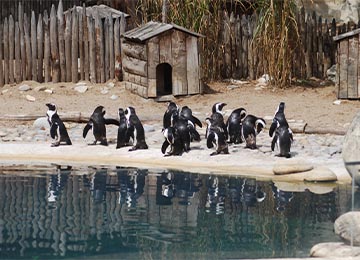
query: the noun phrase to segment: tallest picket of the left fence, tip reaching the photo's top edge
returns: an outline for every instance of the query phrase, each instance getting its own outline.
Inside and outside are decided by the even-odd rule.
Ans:
[[[65,55],[65,21],[62,0],[59,1],[57,9],[57,21],[59,32],[59,58],[60,58],[60,80],[66,81],[66,55]]]

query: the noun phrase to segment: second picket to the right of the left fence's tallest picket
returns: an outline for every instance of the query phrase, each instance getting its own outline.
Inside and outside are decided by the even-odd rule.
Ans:
[[[75,9],[75,8],[74,8]],[[78,44],[79,44],[79,22],[76,11],[72,12],[72,27],[71,27],[71,81],[79,81],[78,70]]]

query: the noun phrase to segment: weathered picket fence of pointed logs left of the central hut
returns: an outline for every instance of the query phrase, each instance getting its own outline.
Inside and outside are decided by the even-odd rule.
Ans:
[[[60,1],[57,10],[52,5],[50,15],[45,10],[36,19],[34,12],[28,17],[20,4],[16,21],[12,15],[4,19],[0,86],[23,80],[103,83],[115,78],[125,18],[114,20],[111,14],[100,18],[97,11],[89,17],[85,6],[71,10],[64,12]]]

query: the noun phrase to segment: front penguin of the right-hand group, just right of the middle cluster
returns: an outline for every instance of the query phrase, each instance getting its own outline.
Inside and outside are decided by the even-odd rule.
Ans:
[[[229,154],[228,144],[224,129],[220,126],[213,124],[212,118],[206,118],[205,122],[208,125],[208,134],[206,138],[206,146],[211,149],[215,147],[216,151],[212,152],[210,156],[217,155],[220,153]]]

